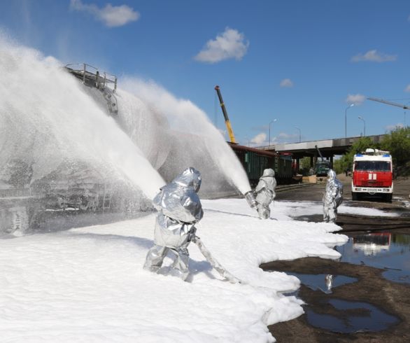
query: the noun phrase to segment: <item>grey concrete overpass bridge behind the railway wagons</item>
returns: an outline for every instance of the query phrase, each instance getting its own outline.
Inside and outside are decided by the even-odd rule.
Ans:
[[[374,143],[380,143],[385,137],[385,134],[379,134],[375,136],[366,136],[372,139]],[[320,141],[302,141],[300,143],[287,143],[287,144],[275,144],[271,146],[261,146],[260,149],[267,150],[276,153],[291,153],[292,157],[296,160],[300,158],[310,157],[311,165],[313,165],[313,158],[318,158],[318,146],[323,158],[327,158],[333,163],[334,155],[343,155],[348,151],[353,143],[358,141],[362,137],[347,137],[338,139],[324,139]]]

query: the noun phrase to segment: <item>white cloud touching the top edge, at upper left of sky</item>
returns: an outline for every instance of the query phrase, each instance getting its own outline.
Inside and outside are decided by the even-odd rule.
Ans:
[[[140,17],[136,10],[127,5],[112,6],[111,3],[107,3],[104,8],[99,8],[94,3],[87,5],[81,0],[71,0],[70,9],[90,13],[108,27],[126,25],[129,22],[139,20]]]

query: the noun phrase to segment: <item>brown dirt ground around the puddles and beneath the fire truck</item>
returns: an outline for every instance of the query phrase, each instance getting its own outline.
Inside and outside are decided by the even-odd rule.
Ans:
[[[369,225],[377,230],[395,229],[410,235],[410,179],[395,180],[393,201],[391,203],[367,199],[359,202],[351,201],[351,178],[339,175],[338,179],[344,183],[344,204],[355,207],[372,207],[392,211],[400,214],[394,222],[383,218],[362,218],[360,216],[338,216],[338,225],[344,233],[351,235],[352,231],[368,230]],[[304,188],[279,191],[276,200],[306,200],[320,201],[325,189],[325,183],[319,183]],[[407,201],[407,203],[405,202]],[[321,221],[321,216],[312,216],[309,221]],[[353,334],[334,333],[309,325],[306,316],[302,315],[292,321],[271,325],[269,330],[276,337],[277,342],[410,342],[410,285],[389,281],[381,273],[383,269],[376,269],[366,265],[351,265],[345,262],[325,260],[322,258],[301,258],[294,261],[276,261],[261,265],[262,269],[283,272],[298,272],[302,274],[333,274],[351,276],[358,279],[355,283],[348,283],[332,289],[332,295],[325,295],[320,290],[311,290],[301,286],[297,297],[309,304],[313,311],[319,314],[332,314],[344,320],[348,314],[332,313],[325,298],[369,302],[387,314],[392,314],[400,322],[381,332],[356,332]],[[351,311],[351,310],[349,310]]]

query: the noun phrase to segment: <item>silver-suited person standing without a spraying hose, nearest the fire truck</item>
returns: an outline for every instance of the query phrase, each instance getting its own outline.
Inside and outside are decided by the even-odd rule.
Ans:
[[[343,185],[336,178],[334,170],[330,169],[327,176],[329,179],[323,195],[323,221],[334,223],[337,217],[337,207],[343,201]]]

